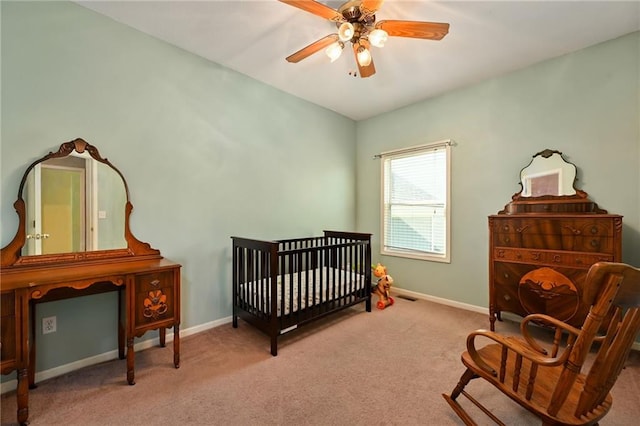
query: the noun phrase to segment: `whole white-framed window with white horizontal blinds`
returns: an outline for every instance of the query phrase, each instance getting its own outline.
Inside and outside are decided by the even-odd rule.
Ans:
[[[382,254],[449,262],[450,141],[382,158]]]

